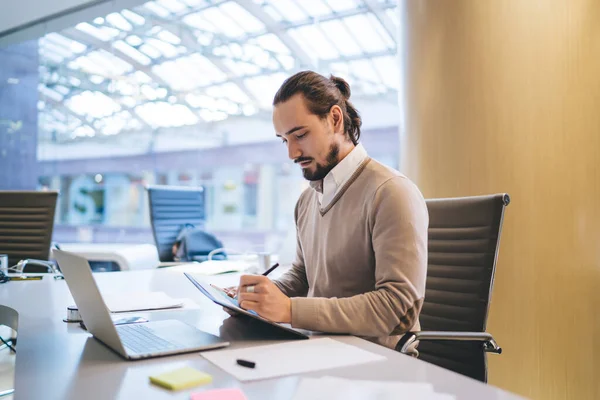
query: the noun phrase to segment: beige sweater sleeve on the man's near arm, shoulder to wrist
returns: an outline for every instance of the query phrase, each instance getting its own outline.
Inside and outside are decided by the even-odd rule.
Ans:
[[[369,206],[375,288],[347,298],[293,298],[292,326],[361,336],[398,335],[418,321],[425,296],[429,215],[417,187],[394,177]]]

